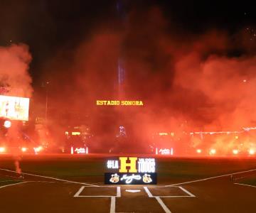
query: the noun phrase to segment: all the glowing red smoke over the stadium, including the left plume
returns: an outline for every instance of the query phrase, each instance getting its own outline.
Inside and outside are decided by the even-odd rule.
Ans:
[[[64,150],[77,126],[95,152],[247,152],[256,148],[256,57],[245,27],[191,33],[159,7],[130,9],[51,54],[34,97],[27,45],[0,48],[0,82],[34,100],[30,117],[43,125],[33,133],[38,146]]]

